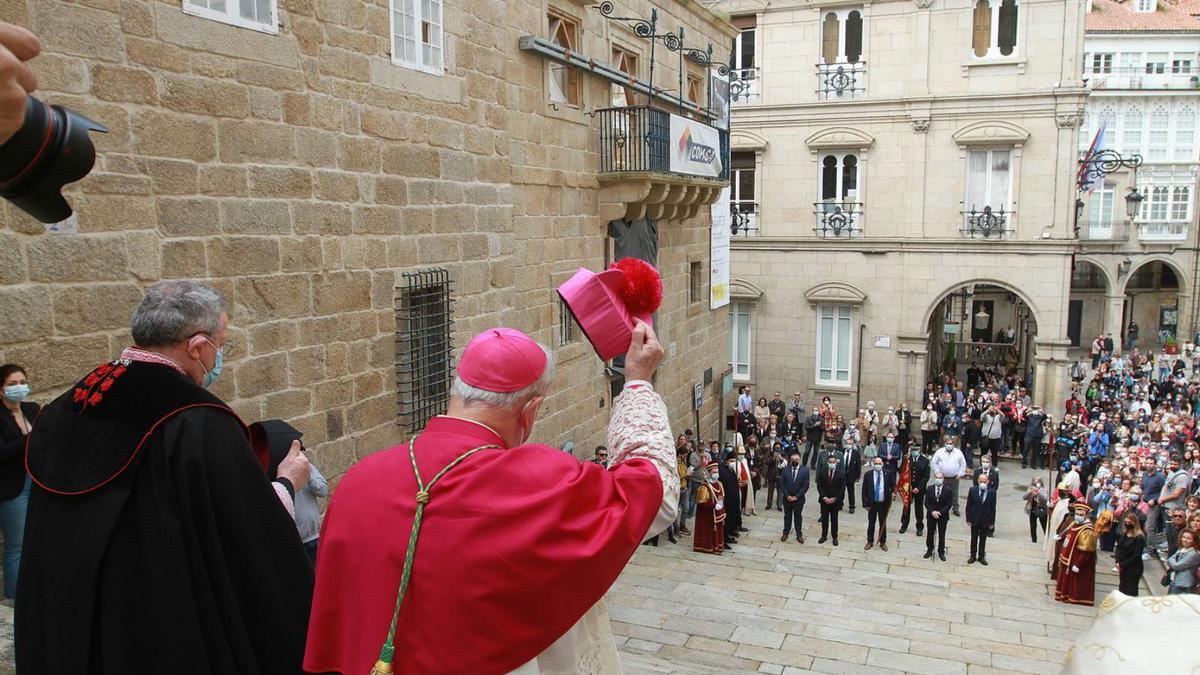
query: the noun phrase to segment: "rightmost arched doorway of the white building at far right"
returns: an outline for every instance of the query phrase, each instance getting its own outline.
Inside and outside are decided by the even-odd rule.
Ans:
[[[1183,307],[1183,279],[1174,265],[1150,259],[1133,269],[1124,285],[1122,333],[1128,341],[1130,322],[1136,324],[1133,346],[1141,351],[1174,351],[1175,342],[1187,341],[1180,310]]]

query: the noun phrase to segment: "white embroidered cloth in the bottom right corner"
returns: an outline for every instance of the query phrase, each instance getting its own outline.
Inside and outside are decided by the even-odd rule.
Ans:
[[[1200,596],[1132,598],[1112,591],[1096,608],[1096,622],[1067,650],[1063,675],[1200,673]]]

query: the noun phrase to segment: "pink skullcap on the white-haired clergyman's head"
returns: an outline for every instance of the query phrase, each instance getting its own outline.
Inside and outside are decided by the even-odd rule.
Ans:
[[[458,377],[487,392],[520,392],[542,372],[546,352],[515,328],[491,328],[475,335],[458,358]]]

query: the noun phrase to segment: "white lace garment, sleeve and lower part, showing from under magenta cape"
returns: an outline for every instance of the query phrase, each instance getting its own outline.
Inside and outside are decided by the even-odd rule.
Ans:
[[[631,459],[649,460],[662,478],[662,504],[643,539],[662,532],[678,515],[679,470],[671,420],[662,399],[649,387],[626,388],[613,401],[608,424],[608,471]],[[512,675],[620,673],[620,659],[604,599],[592,607],[554,644]]]

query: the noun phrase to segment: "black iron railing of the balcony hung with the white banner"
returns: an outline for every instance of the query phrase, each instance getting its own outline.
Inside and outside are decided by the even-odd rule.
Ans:
[[[677,173],[671,171],[671,113],[650,106],[601,108],[600,173]],[[716,130],[720,138],[721,173],[730,178],[730,133]],[[684,174],[680,174],[684,175]]]

